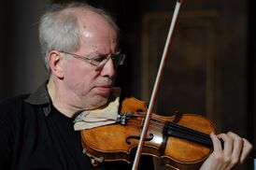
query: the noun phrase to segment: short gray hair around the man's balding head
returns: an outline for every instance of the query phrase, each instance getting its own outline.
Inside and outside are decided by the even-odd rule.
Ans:
[[[105,18],[116,30],[119,35],[119,27],[107,14],[100,8],[92,7],[86,3],[71,2],[67,4],[54,4],[40,19],[39,41],[45,67],[50,73],[48,54],[50,50],[76,51],[80,48],[80,31],[78,28],[78,18],[76,12],[70,12],[66,9],[82,8],[91,10]]]

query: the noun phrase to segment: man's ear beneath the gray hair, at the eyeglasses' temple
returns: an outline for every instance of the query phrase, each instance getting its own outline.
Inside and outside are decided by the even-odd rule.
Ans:
[[[64,57],[61,52],[51,50],[48,54],[48,61],[50,65],[51,74],[57,78],[64,78]]]

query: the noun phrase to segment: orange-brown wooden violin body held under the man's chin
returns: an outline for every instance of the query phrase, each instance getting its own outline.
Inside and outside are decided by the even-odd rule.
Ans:
[[[125,124],[117,123],[81,131],[84,153],[96,162],[125,161],[131,163],[139,142],[146,111],[146,102],[135,98],[125,99],[121,105],[121,114],[127,115]],[[175,123],[174,126],[173,123]],[[177,114],[172,117],[163,117],[153,113],[142,154],[157,157],[164,164],[178,169],[197,169],[212,149],[183,136],[184,132],[189,136],[191,133],[193,136],[197,135],[193,134],[193,131],[202,133],[203,138],[206,135],[207,140],[210,140],[208,135],[215,132],[216,128],[210,120],[199,115]]]

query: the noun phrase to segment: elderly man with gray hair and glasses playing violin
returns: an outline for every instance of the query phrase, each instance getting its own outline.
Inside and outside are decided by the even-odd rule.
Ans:
[[[124,58],[119,29],[103,10],[69,3],[47,11],[39,35],[50,77],[36,92],[1,103],[0,169],[95,169],[82,153],[74,117],[80,110],[107,105]],[[234,133],[211,137],[214,151],[201,169],[230,169],[252,148]],[[129,169],[119,163],[102,163],[96,169],[115,167]]]

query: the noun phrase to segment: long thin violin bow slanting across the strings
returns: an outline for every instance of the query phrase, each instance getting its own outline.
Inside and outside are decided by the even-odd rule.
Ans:
[[[174,32],[176,21],[178,19],[178,13],[179,13],[179,9],[180,9],[181,4],[182,4],[182,0],[178,0],[177,3],[176,3],[173,18],[172,18],[172,21],[171,21],[171,24],[170,24],[169,32],[168,32],[166,42],[165,42],[165,46],[164,46],[164,52],[163,52],[162,60],[161,60],[161,63],[160,63],[159,69],[158,69],[157,77],[155,79],[153,91],[151,93],[151,97],[150,97],[150,101],[149,101],[149,108],[148,108],[147,113],[146,113],[146,118],[145,118],[143,129],[142,129],[142,132],[141,132],[141,135],[140,135],[140,140],[139,140],[139,143],[138,143],[138,147],[136,149],[135,161],[134,161],[134,164],[133,164],[133,170],[136,170],[137,167],[138,167],[138,163],[139,163],[139,160],[140,160],[140,155],[142,153],[145,137],[147,135],[148,128],[149,128],[149,120],[150,120],[150,117],[151,117],[151,114],[152,114],[153,106],[155,104],[156,94],[158,92],[160,80],[161,80],[162,75],[163,75],[164,64],[165,64],[165,61],[166,61],[166,58],[167,58],[167,55],[168,55],[169,47],[171,45],[171,38],[172,38],[172,35],[173,35],[173,32]]]

